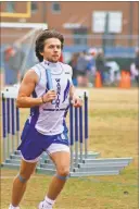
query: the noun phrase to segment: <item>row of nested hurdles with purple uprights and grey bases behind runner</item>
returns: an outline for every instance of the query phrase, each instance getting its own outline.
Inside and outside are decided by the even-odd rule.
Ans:
[[[15,104],[18,88],[5,88],[1,93],[2,101],[2,167],[18,169],[21,152],[16,150],[20,145],[20,109]],[[74,108],[69,102],[68,135],[71,148],[71,177],[90,175],[117,175],[126,168],[132,158],[100,158],[100,152],[89,151],[89,95],[87,90],[79,90],[82,97],[82,107]],[[55,167],[51,159],[43,152],[38,162],[37,173],[52,175]]]

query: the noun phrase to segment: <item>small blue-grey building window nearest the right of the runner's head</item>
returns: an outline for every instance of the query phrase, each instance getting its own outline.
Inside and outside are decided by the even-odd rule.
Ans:
[[[87,45],[87,28],[74,29],[74,45]]]

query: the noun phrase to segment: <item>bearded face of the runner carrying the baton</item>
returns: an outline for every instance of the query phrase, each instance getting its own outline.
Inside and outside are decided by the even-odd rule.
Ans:
[[[58,62],[61,57],[61,41],[58,38],[48,38],[44,42],[43,52],[41,52],[44,60],[50,62]]]

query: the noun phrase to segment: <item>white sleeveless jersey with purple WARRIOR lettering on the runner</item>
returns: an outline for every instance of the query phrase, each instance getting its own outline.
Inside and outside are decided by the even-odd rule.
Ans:
[[[67,64],[48,61],[40,62],[31,67],[38,75],[39,82],[33,97],[41,97],[48,91],[46,71],[51,70],[53,89],[56,93],[55,102],[47,102],[30,109],[29,121],[38,132],[44,135],[63,133],[65,114],[69,106],[69,88],[72,85],[72,67]]]

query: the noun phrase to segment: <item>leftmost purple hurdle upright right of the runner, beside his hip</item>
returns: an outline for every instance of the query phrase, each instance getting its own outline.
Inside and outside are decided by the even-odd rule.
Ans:
[[[74,118],[73,104],[69,103],[69,142],[71,142],[71,171],[74,169]]]

